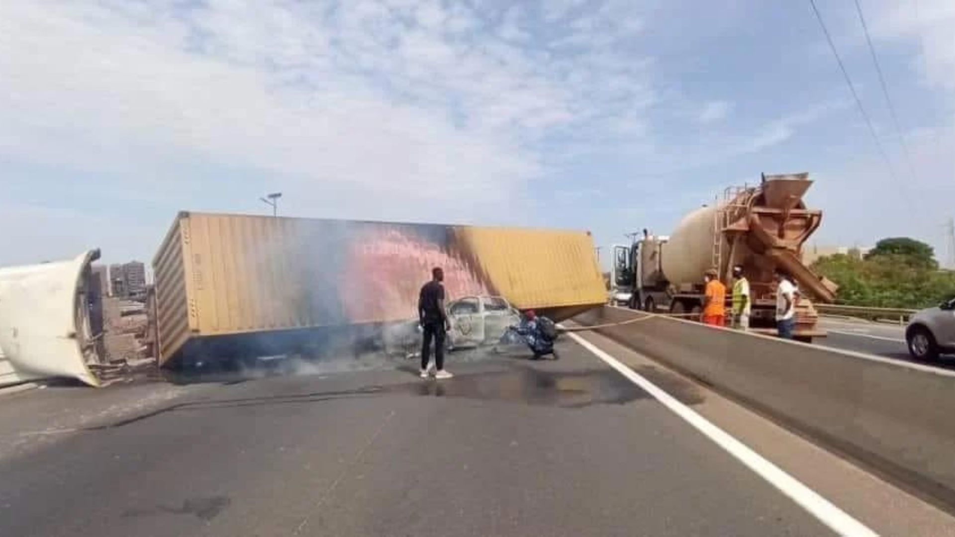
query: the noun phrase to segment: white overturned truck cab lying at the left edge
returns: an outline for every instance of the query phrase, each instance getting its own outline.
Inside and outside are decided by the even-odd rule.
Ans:
[[[101,327],[91,311],[98,290],[90,264],[99,250],[74,259],[0,269],[0,386],[69,377],[91,386],[101,359]]]

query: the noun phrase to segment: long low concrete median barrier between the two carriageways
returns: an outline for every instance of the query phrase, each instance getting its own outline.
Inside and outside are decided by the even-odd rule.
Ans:
[[[575,320],[643,315],[604,307]],[[661,316],[597,332],[955,509],[955,373]]]

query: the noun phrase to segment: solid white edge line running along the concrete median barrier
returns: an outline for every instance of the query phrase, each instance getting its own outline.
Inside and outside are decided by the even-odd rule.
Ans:
[[[716,445],[722,447],[737,461],[742,462],[759,477],[775,486],[776,489],[796,502],[797,505],[809,511],[819,522],[829,526],[838,535],[852,535],[854,537],[878,535],[878,533],[864,526],[845,511],[839,509],[836,505],[833,505],[817,494],[816,491],[787,474],[773,462],[767,461],[746,444],[736,440],[723,429],[713,425],[710,420],[703,418],[687,405],[671,397],[667,392],[664,392],[643,376],[638,375],[632,369],[626,367],[626,365],[617,360],[617,358],[606,354],[596,345],[576,333],[569,333],[569,335],[574,341],[580,343],[584,349],[597,355],[597,357],[604,360],[607,365],[617,370],[621,375],[626,376],[626,378],[637,386],[643,388],[648,394],[663,403],[673,414],[676,414],[690,423],[694,429],[703,433],[703,435],[715,442]]]

